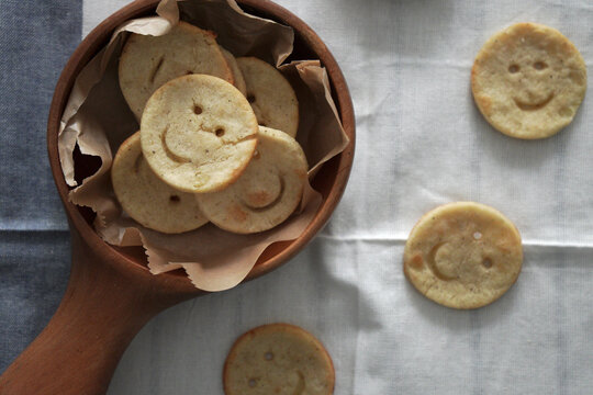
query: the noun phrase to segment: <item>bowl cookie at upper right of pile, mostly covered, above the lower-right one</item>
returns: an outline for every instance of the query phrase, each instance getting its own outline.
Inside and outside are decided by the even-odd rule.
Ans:
[[[237,64],[259,124],[296,136],[299,101],[289,81],[276,67],[258,58],[239,57]]]

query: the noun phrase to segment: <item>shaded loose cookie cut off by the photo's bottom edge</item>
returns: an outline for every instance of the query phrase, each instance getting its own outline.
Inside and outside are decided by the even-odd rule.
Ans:
[[[331,395],[335,372],[323,345],[302,328],[270,324],[239,337],[223,372],[226,395]]]

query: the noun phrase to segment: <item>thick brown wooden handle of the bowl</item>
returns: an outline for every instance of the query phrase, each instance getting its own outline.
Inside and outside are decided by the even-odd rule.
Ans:
[[[115,270],[72,233],[66,294],[47,327],[0,376],[0,394],[104,394],[136,332],[187,298],[158,296],[149,282]]]

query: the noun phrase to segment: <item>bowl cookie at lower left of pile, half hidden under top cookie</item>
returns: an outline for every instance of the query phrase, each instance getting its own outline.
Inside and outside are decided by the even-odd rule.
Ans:
[[[120,146],[111,180],[123,210],[147,228],[177,234],[208,223],[192,193],[177,191],[153,173],[142,155],[139,133]]]

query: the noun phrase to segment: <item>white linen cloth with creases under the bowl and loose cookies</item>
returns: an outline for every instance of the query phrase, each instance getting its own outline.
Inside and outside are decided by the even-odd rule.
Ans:
[[[85,0],[83,34],[126,2]],[[469,77],[486,38],[523,21],[560,30],[593,65],[593,3],[277,2],[325,41],[350,88],[357,147],[343,201],[284,267],[153,319],[109,394],[223,394],[235,338],[273,321],[323,341],[339,395],[591,393],[591,100],[557,136],[523,142],[488,125]],[[518,282],[478,311],[436,305],[402,273],[414,223],[451,201],[494,206],[524,240]]]

